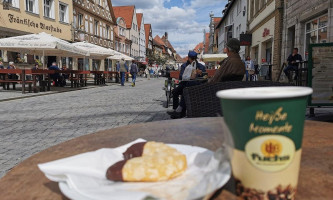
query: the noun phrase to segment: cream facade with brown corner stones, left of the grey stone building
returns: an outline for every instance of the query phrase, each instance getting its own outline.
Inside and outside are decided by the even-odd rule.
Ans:
[[[272,79],[281,68],[283,0],[249,0],[248,32],[252,34],[249,55],[258,65],[272,65]]]

